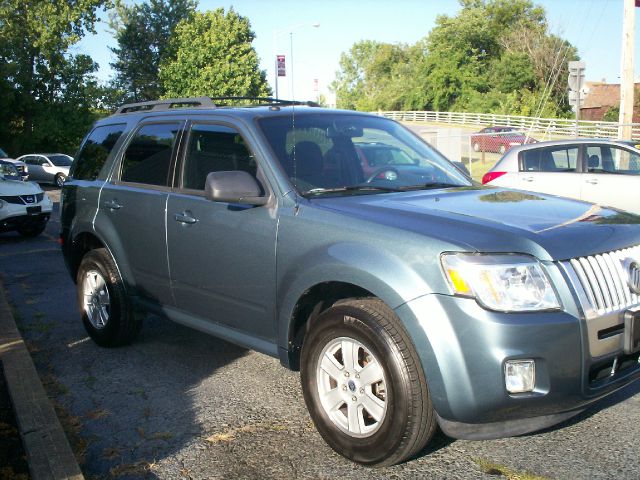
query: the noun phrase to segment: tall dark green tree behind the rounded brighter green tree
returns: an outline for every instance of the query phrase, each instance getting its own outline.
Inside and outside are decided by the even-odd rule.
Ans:
[[[160,64],[175,55],[170,39],[176,25],[194,14],[196,0],[150,0],[131,6],[116,0],[109,24],[118,46],[111,48],[116,60],[113,92],[119,103],[160,98]],[[112,92],[112,93],[113,93]]]

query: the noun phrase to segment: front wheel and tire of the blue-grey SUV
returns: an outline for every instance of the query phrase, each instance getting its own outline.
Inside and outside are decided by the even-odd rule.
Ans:
[[[349,351],[357,352],[346,357],[355,361],[345,359]],[[400,319],[379,300],[342,301],[314,321],[302,347],[301,381],[318,432],[355,462],[402,462],[436,429],[416,351]]]

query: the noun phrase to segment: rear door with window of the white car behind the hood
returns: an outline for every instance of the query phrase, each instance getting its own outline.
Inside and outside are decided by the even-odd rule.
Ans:
[[[520,153],[516,188],[580,199],[578,145],[524,150]]]

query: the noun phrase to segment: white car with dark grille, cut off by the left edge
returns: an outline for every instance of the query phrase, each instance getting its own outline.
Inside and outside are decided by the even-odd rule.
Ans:
[[[37,184],[23,182],[13,163],[0,160],[0,232],[40,235],[52,208],[51,200]]]

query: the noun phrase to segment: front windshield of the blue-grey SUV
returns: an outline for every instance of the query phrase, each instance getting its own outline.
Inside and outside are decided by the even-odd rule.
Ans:
[[[258,123],[305,196],[471,185],[441,153],[382,117],[296,113],[295,119],[267,117]]]

